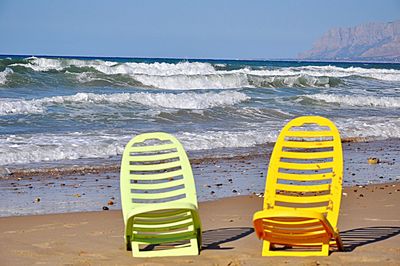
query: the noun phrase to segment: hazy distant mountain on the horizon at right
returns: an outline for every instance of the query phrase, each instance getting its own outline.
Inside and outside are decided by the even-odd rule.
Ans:
[[[400,20],[331,29],[298,58],[400,62]]]

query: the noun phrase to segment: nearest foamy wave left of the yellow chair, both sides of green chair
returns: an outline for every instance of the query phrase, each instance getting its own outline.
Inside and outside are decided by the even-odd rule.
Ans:
[[[1,165],[108,158],[122,154],[124,146],[137,132],[71,132],[0,137]],[[206,131],[175,134],[186,150],[251,147],[275,141],[274,133],[258,131]]]

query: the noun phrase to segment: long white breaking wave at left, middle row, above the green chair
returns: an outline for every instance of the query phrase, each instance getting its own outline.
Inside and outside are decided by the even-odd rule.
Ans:
[[[47,106],[62,104],[127,104],[138,103],[150,107],[173,109],[208,109],[234,105],[250,99],[242,92],[220,93],[77,93],[69,96],[54,96],[34,100],[0,99],[0,115],[43,113]]]

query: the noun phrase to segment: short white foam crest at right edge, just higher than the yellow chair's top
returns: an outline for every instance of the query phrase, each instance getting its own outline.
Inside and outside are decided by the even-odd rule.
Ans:
[[[383,108],[399,108],[400,97],[377,97],[358,95],[313,94],[304,97],[328,103],[337,103],[346,106],[368,106]]]

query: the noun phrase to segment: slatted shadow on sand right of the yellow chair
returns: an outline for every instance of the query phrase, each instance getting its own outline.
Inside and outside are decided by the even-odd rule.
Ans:
[[[400,227],[395,226],[373,226],[340,232],[345,252],[351,252],[357,247],[382,241],[398,234],[400,234]]]

